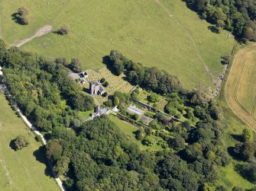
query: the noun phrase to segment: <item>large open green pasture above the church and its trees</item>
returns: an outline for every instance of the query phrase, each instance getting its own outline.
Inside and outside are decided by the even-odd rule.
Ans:
[[[22,5],[30,12],[28,26],[11,20]],[[70,26],[66,36],[48,33],[21,49],[50,58],[77,57],[85,69],[96,70],[104,66],[103,56],[118,49],[134,62],[177,75],[185,88],[212,85],[222,72],[220,57],[235,45],[233,37],[226,38],[228,31],[212,33],[212,26],[180,0],[0,0],[0,17],[1,37],[10,44],[47,24],[53,31]]]

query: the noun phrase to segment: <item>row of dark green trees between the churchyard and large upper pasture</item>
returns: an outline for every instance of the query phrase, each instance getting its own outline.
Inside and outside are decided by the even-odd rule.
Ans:
[[[158,68],[147,68],[141,63],[134,63],[125,58],[118,50],[112,50],[108,67],[115,75],[125,72],[126,80],[131,84],[139,84],[141,88],[157,94],[168,94],[183,90],[180,80]]]

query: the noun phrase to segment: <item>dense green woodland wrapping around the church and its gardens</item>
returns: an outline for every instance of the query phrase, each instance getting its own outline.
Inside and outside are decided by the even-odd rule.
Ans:
[[[199,92],[183,90],[177,77],[127,62],[123,56],[118,58],[121,55],[112,52],[112,62],[120,62],[118,67],[128,81],[135,79],[133,83],[170,97],[167,111],[183,107],[185,102],[197,107],[196,113],[186,112],[197,115],[196,126],[189,122],[173,126],[157,116],[151,128],[159,132],[165,129],[172,135],[160,134],[167,142],[162,151],[142,151],[108,116],[81,123],[77,111],[91,110],[93,100],[68,77],[64,59],[47,60],[17,48],[7,49],[4,42],[0,43],[5,84],[34,126],[48,133],[46,155],[53,170],[66,177],[66,189],[227,190],[217,181],[219,167],[229,163],[222,145],[218,105]],[[118,67],[113,67],[115,72]],[[118,100],[113,101],[122,104],[132,96],[136,95],[117,92]]]

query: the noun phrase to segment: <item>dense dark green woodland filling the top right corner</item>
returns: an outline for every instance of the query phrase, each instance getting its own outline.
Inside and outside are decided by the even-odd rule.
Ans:
[[[254,1],[186,0],[185,2],[202,18],[215,24],[215,30],[229,30],[243,41],[256,40],[256,4]]]

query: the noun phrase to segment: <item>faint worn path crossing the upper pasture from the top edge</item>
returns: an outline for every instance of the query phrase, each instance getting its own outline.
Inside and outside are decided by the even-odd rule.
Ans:
[[[177,25],[179,25],[179,26],[185,31],[185,33],[187,34],[187,36],[190,37],[190,40],[192,41],[193,46],[194,46],[194,49],[195,49],[195,51],[196,51],[196,55],[198,56],[198,58],[199,58],[199,60],[201,61],[201,63],[203,63],[203,66],[204,66],[204,68],[205,68],[207,74],[209,75],[209,86],[211,86],[211,84],[214,84],[215,79],[214,79],[214,77],[213,77],[213,75],[212,75],[212,72],[209,71],[208,65],[206,64],[206,62],[204,62],[204,60],[203,60],[201,54],[199,53],[199,50],[196,48],[196,43],[195,43],[195,41],[193,40],[193,37],[191,36],[190,32],[189,32],[188,30],[186,30],[186,28],[183,27],[182,24],[180,24],[180,22],[177,20],[177,18],[175,18],[175,16],[174,16],[173,14],[171,14],[170,10],[169,10],[168,8],[166,8],[166,7],[164,6],[164,4],[162,4],[162,3],[160,2],[160,0],[154,0],[154,1],[157,2],[157,4],[160,5],[162,8],[164,8],[164,11],[167,12],[167,14],[169,15],[169,17],[172,18],[172,19],[177,23]],[[212,81],[211,81],[210,78],[212,78]]]

